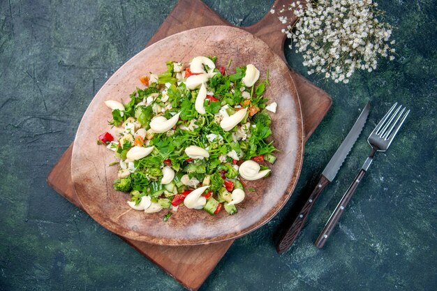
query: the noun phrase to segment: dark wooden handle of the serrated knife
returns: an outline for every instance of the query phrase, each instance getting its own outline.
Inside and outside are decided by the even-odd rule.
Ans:
[[[299,211],[299,214],[295,218],[295,221],[292,221],[290,225],[286,227],[286,230],[283,232],[282,237],[279,239],[278,244],[276,244],[276,251],[278,253],[283,253],[290,248],[293,242],[296,240],[299,232],[304,227],[304,223],[306,218],[309,216],[309,212],[313,208],[314,202],[316,202],[320,193],[322,193],[323,189],[329,184],[329,180],[326,179],[325,176],[321,175],[318,183],[316,184],[316,188],[314,188],[311,195],[309,195],[308,200],[306,200],[304,207]]]

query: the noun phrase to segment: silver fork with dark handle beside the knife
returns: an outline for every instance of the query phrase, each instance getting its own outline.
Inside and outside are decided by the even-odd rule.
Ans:
[[[366,171],[369,169],[369,166],[373,161],[373,156],[377,151],[387,151],[388,147],[390,147],[390,144],[392,144],[394,137],[399,131],[399,128],[401,128],[403,121],[405,121],[408,113],[410,113],[410,110],[405,112],[406,108],[403,107],[402,109],[402,105],[399,105],[399,107],[397,107],[395,110],[396,107],[397,103],[394,103],[392,108],[390,108],[387,114],[385,114],[383,119],[379,121],[376,128],[373,129],[369,135],[367,142],[369,142],[372,148],[371,153],[364,162],[364,165],[362,165],[360,172],[358,172],[352,184],[350,184],[346,193],[344,193],[336,209],[334,212],[332,212],[331,217],[329,217],[327,223],[325,224],[325,227],[323,227],[323,230],[315,243],[318,248],[323,248],[325,245],[325,242],[334,229],[336,223],[339,221],[341,214],[343,214],[343,211],[350,201],[350,198],[352,197],[353,193],[355,193],[355,190],[357,190],[358,184],[360,184],[364,174],[366,174]]]

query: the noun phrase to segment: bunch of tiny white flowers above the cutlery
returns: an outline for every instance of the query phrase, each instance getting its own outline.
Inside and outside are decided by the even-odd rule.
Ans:
[[[306,10],[299,1],[290,4],[288,9],[300,19],[294,31],[288,25],[283,32],[292,39],[290,48],[302,52],[309,75],[322,73],[334,82],[347,83],[356,68],[370,72],[377,68],[378,57],[394,59],[392,27],[378,21],[376,17],[383,13],[373,0],[305,3]],[[284,23],[287,19],[279,16],[279,20]]]

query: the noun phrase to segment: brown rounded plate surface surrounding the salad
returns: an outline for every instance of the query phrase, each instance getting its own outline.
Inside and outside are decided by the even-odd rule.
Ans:
[[[140,87],[138,78],[145,73],[166,70],[165,62],[188,63],[196,56],[217,56],[216,64],[228,72],[235,66],[254,64],[265,77],[269,69],[270,87],[265,96],[278,103],[272,114],[274,145],[279,149],[272,175],[250,181],[246,199],[238,213],[229,216],[221,211],[210,216],[206,211],[179,207],[167,222],[163,210],[145,214],[128,207],[128,194],[114,191],[117,178],[113,152],[96,144],[97,136],[109,129],[110,110],[105,100],[129,100],[129,94]],[[108,230],[138,241],[162,245],[209,244],[241,237],[267,223],[287,202],[302,167],[303,124],[299,98],[289,69],[267,44],[251,33],[233,27],[201,27],[165,38],[130,59],[110,77],[96,94],[80,123],[73,147],[72,178],[77,197],[84,209]],[[246,189],[247,189],[246,188]]]

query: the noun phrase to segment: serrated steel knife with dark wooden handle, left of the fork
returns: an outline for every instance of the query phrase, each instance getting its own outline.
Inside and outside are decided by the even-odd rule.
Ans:
[[[348,156],[350,149],[352,149],[353,144],[357,140],[358,136],[361,133],[364,124],[366,123],[366,119],[369,116],[370,103],[367,103],[364,109],[362,110],[360,116],[358,117],[355,124],[350,129],[348,135],[341,143],[339,149],[336,150],[334,156],[332,156],[329,163],[326,165],[325,170],[323,170],[320,178],[318,179],[318,183],[316,184],[316,188],[314,188],[311,195],[309,195],[308,200],[306,200],[304,207],[299,211],[299,214],[295,218],[295,221],[285,227],[285,230],[280,237],[278,243],[276,244],[276,251],[278,253],[283,253],[290,248],[293,244],[297,235],[304,227],[304,223],[306,218],[309,216],[309,212],[313,208],[314,202],[316,202],[320,193],[322,193],[323,189],[334,180],[337,172],[343,164],[346,156]]]

